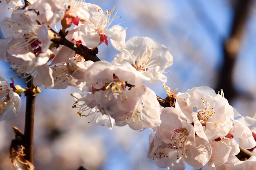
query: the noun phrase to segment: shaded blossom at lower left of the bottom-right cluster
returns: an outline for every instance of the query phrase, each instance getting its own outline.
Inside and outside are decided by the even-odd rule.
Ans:
[[[202,168],[211,156],[209,142],[195,136],[194,127],[177,108],[163,108],[160,117],[162,123],[150,137],[148,158],[171,170],[183,170],[185,161],[196,169]]]

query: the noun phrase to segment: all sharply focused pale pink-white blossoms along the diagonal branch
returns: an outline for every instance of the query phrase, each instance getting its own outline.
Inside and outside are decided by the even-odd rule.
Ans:
[[[7,3],[22,6],[19,0]],[[81,117],[91,116],[89,123],[152,129],[148,158],[161,168],[183,170],[185,162],[205,170],[255,165],[255,157],[244,162],[234,157],[239,146],[255,147],[249,129],[255,121],[235,119],[240,115],[222,93],[203,86],[175,94],[164,85],[172,104],[160,108],[145,82],[166,82],[163,73],[173,64],[173,56],[152,38],[126,41],[121,23],[112,25],[115,7],[103,11],[83,0],[27,0],[25,7],[14,9],[11,18],[0,23],[6,37],[0,40],[0,60],[8,62],[16,76],[31,77],[28,81],[43,88],[80,88],[80,93],[72,94],[72,107]],[[57,23],[62,26],[59,31]],[[119,51],[114,60],[88,60],[85,54],[96,55],[97,46],[108,46],[108,39]],[[0,75],[0,121],[20,109],[18,92],[13,91],[13,83]]]

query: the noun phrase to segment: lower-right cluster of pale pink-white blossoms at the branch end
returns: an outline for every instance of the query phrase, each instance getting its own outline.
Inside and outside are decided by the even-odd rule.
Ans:
[[[162,123],[150,135],[148,158],[159,167],[182,170],[186,162],[196,169],[221,169],[237,159],[239,146],[255,147],[252,131],[234,119],[239,113],[213,89],[194,87],[175,96],[175,108],[162,109]]]

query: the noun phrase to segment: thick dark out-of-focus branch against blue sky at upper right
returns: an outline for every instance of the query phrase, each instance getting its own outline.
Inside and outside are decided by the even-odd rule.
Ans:
[[[249,15],[251,2],[251,0],[237,0],[234,3],[234,19],[229,38],[223,41],[224,63],[218,73],[219,78],[216,91],[223,89],[227,100],[231,100],[237,95],[232,82],[232,75],[236,57],[243,39],[243,29]]]

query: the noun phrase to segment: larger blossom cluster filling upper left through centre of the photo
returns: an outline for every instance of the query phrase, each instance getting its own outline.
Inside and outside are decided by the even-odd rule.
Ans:
[[[163,73],[173,64],[173,56],[166,46],[148,37],[126,42],[126,29],[111,25],[117,19],[115,7],[104,12],[83,0],[28,2],[1,22],[6,39],[0,40],[0,59],[9,62],[16,76],[31,76],[34,85],[43,88],[80,88],[80,94],[73,94],[73,108],[110,128],[129,124],[139,130],[161,123],[157,97],[144,82],[167,81]],[[56,33],[58,22],[62,29]],[[120,53],[112,63],[94,63],[65,44],[53,43],[55,34],[91,55],[102,42],[108,45],[109,38]]]

